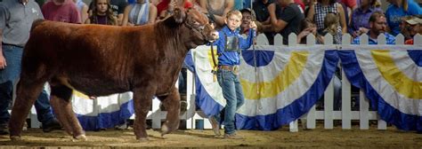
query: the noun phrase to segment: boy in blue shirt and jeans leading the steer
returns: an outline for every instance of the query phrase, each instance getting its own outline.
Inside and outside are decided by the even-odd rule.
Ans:
[[[256,24],[251,21],[248,38],[244,39],[239,35],[237,29],[241,24],[241,12],[234,10],[228,12],[224,20],[225,26],[219,31],[219,38],[215,41],[218,53],[217,80],[223,89],[223,97],[227,104],[223,109],[224,138],[239,139],[235,130],[235,113],[243,105],[244,98],[242,88],[238,79],[238,68],[240,63],[240,51],[247,50],[253,43],[256,35]],[[216,136],[220,136],[220,115],[210,116],[209,121],[213,126]]]

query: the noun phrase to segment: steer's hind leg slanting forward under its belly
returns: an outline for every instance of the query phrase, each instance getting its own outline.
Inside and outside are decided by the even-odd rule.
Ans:
[[[86,140],[85,132],[72,109],[72,90],[64,85],[52,86],[51,103],[53,106],[54,114],[56,115],[61,125],[66,131],[74,138]]]

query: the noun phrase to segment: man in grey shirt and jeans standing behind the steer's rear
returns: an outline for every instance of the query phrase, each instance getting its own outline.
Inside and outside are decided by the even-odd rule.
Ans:
[[[13,84],[20,75],[20,59],[32,22],[37,19],[44,17],[34,0],[7,0],[0,4],[0,135],[8,134],[10,114],[7,110],[12,103]],[[45,90],[35,106],[38,121],[43,123],[45,132],[61,129],[53,117]]]

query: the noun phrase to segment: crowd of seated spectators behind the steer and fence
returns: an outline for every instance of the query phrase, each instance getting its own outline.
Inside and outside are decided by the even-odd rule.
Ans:
[[[421,3],[414,0],[93,0],[90,4],[84,4],[82,0],[47,0],[52,2],[45,4],[42,4],[43,0],[38,1],[47,20],[50,5],[68,3],[76,5],[75,11],[80,14],[78,21],[63,20],[63,17],[53,20],[119,26],[154,23],[170,16],[174,7],[181,7],[206,13],[219,29],[224,25],[227,12],[239,10],[244,16],[239,30],[245,33],[248,22],[255,20],[258,32],[266,35],[270,44],[274,43],[273,37],[277,34],[283,36],[284,44],[288,44],[291,33],[298,36],[298,43],[306,43],[304,36],[309,34],[317,37],[317,43],[324,43],[326,34],[333,35],[334,43],[341,43],[344,34],[353,38],[368,34],[370,38],[369,18],[374,12],[384,13],[382,18],[386,21],[385,27],[377,28],[376,32],[385,36],[401,33],[408,40],[406,43],[411,43],[413,35],[422,34]],[[388,6],[383,10],[381,3]]]

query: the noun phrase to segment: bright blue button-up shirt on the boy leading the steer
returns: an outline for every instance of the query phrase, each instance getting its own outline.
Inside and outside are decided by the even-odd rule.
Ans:
[[[255,36],[255,31],[250,30],[248,33],[248,38],[244,39],[240,34],[239,30],[231,30],[229,27],[224,26],[219,32],[219,38],[215,41],[217,46],[218,65],[219,66],[235,66],[240,64],[239,53],[237,51],[224,51],[226,44],[226,37],[237,36],[239,38],[239,49],[245,51],[253,43],[253,38]]]

